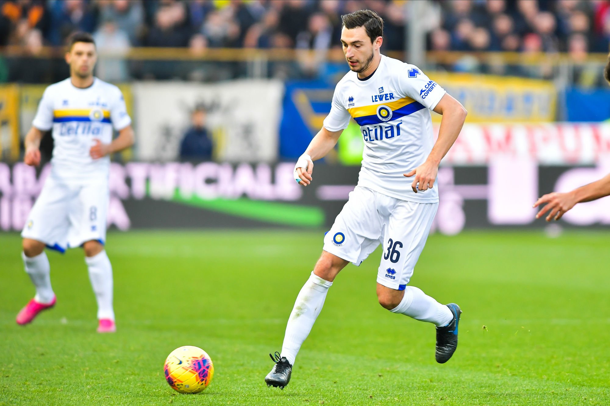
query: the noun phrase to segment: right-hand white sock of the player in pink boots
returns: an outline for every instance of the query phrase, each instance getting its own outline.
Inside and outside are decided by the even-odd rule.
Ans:
[[[89,279],[98,301],[98,319],[114,320],[112,310],[112,265],[106,251],[102,251],[93,257],[85,257],[89,267]]]

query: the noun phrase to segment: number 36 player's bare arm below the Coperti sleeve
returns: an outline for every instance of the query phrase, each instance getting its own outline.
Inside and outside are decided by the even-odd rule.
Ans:
[[[434,180],[436,180],[439,172],[440,160],[442,160],[453,143],[458,139],[467,115],[464,106],[447,93],[434,107],[434,112],[443,116],[440,121],[439,138],[436,140],[434,148],[432,148],[426,162],[411,172],[404,174],[406,177],[415,175],[413,183],[411,183],[411,188],[415,193],[418,190],[424,191],[434,186]]]

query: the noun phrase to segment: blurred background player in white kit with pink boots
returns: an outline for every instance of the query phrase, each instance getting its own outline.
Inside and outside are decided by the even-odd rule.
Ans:
[[[25,140],[27,165],[40,165],[43,132],[52,130],[54,149],[51,173],[21,233],[23,263],[36,294],[16,321],[27,324],[56,304],[45,246],[60,252],[82,247],[98,302],[98,332],[115,332],[112,266],[104,251],[109,154],[131,146],[134,132],[121,91],[93,76],[91,35],[76,33],[69,46],[70,77],[46,88]],[[114,140],[113,129],[119,132]]]

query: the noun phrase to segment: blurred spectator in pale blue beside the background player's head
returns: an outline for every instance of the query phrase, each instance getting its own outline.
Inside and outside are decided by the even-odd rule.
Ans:
[[[96,75],[108,82],[124,82],[128,78],[127,62],[124,57],[129,52],[129,37],[119,29],[114,20],[106,20],[93,34],[99,59]]]

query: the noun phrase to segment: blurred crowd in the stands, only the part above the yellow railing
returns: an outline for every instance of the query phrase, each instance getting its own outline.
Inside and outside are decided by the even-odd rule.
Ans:
[[[0,46],[62,45],[74,30],[101,48],[339,46],[340,15],[376,10],[389,50],[404,49],[404,1],[1,0]],[[432,1],[428,49],[608,52],[609,0]]]

